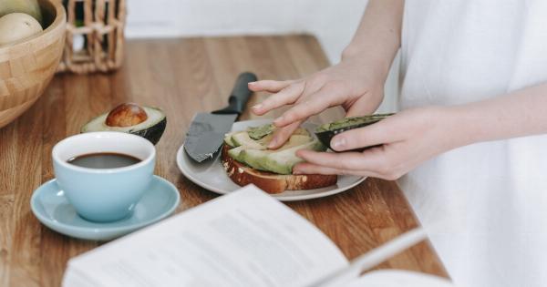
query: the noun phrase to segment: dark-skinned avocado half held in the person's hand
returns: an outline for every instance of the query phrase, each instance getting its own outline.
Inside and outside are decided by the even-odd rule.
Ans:
[[[330,142],[331,139],[335,137],[335,135],[353,128],[363,128],[368,125],[372,125],[392,115],[394,114],[376,114],[364,117],[342,118],[317,127],[315,129],[315,136],[317,136],[319,141],[321,141],[321,143],[323,143],[326,147],[332,149],[330,146]],[[363,149],[356,149],[356,151],[360,150]]]

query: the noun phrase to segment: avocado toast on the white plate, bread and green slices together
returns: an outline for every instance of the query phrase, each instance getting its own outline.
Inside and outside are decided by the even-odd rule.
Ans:
[[[294,175],[299,149],[325,151],[325,146],[306,129],[298,128],[279,149],[267,149],[274,126],[247,128],[226,135],[222,148],[222,165],[233,182],[240,186],[253,183],[268,193],[284,190],[314,190],[336,183],[335,175]]]

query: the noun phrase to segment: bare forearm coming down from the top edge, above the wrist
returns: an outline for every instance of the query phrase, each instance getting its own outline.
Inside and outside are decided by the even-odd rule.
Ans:
[[[387,77],[401,45],[403,0],[370,0],[356,35],[342,53],[343,61],[374,65]]]

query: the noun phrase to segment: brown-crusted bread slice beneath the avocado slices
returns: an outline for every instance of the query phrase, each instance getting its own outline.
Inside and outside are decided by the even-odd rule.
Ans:
[[[222,166],[226,173],[239,186],[253,183],[268,193],[281,193],[284,190],[315,190],[336,184],[336,175],[303,174],[282,175],[250,168],[228,155],[231,147],[222,147]]]

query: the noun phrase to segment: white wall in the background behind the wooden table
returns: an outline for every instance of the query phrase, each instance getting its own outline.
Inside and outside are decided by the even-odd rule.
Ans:
[[[128,37],[275,35],[317,37],[337,63],[356,31],[366,0],[129,0]],[[393,74],[393,73],[392,73]],[[397,77],[387,84],[393,110]]]

